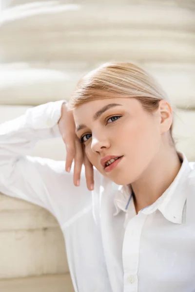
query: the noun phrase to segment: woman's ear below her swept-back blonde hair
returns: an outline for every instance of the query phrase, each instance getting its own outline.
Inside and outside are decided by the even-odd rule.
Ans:
[[[173,110],[170,103],[166,100],[160,100],[158,107],[161,122],[160,122],[160,132],[167,132],[173,123]]]

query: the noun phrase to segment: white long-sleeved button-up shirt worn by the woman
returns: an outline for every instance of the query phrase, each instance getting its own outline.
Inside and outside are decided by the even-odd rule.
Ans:
[[[174,182],[136,215],[131,189],[94,168],[95,189],[73,183],[64,161],[29,156],[40,139],[59,137],[64,101],[0,125],[0,191],[48,209],[66,240],[76,292],[195,291],[195,163],[184,153]],[[64,287],[64,291],[66,288]]]

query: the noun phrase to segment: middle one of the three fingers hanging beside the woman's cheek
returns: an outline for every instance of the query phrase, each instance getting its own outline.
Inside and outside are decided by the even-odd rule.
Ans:
[[[79,185],[80,183],[80,173],[81,173],[81,168],[82,168],[82,164],[83,164],[83,151],[82,151],[82,146],[80,144],[80,142],[78,141],[78,139],[76,138],[75,141],[75,164],[74,164],[74,184],[76,186]]]

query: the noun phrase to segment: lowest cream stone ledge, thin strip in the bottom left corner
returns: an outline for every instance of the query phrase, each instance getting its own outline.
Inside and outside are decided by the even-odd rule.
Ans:
[[[0,280],[1,292],[74,292],[70,274]]]

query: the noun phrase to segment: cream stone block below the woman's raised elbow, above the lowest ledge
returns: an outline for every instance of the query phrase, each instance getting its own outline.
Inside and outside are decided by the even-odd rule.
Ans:
[[[0,278],[67,272],[64,237],[54,216],[0,194]]]

